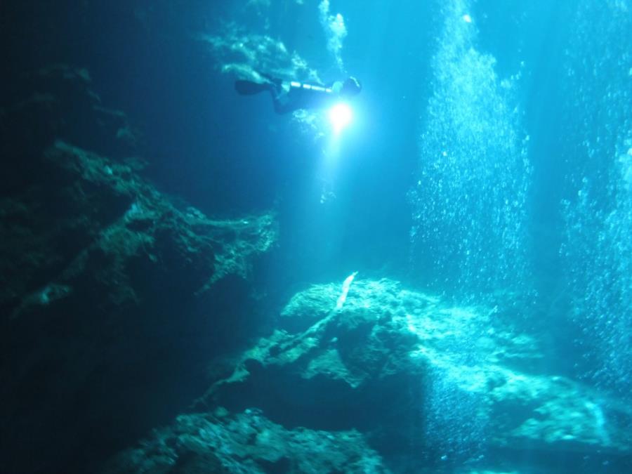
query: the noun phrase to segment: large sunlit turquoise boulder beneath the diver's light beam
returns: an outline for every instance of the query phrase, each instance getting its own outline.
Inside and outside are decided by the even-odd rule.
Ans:
[[[247,350],[197,407],[356,428],[385,456],[415,447],[439,463],[457,452],[496,461],[541,452],[552,464],[566,453],[632,454],[632,409],[539,369],[536,340],[496,310],[455,307],[389,279],[356,280],[342,306],[340,292],[321,284],[291,298],[284,329]]]

